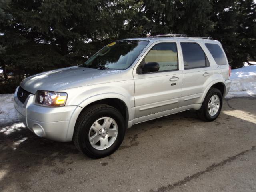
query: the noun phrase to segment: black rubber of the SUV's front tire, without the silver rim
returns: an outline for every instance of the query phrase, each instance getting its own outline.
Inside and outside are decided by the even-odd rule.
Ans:
[[[111,117],[116,121],[118,126],[118,134],[117,134],[116,140],[109,148],[104,150],[97,150],[93,148],[92,145],[90,144],[88,135],[89,135],[90,127],[92,126],[92,124],[96,120],[102,117]],[[120,146],[120,144],[122,143],[124,139],[125,130],[126,129],[124,126],[124,118],[122,117],[122,114],[120,114],[120,112],[113,109],[112,107],[96,110],[94,113],[90,115],[88,120],[80,129],[80,133],[79,133],[80,149],[83,150],[82,152],[84,152],[85,154],[87,154],[92,158],[101,158],[104,156],[108,156],[112,154],[114,151],[116,151]]]

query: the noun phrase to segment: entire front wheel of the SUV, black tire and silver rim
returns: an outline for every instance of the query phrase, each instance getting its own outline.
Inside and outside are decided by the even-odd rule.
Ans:
[[[116,108],[93,105],[79,115],[73,140],[76,148],[88,157],[102,158],[118,149],[125,130],[124,118]]]

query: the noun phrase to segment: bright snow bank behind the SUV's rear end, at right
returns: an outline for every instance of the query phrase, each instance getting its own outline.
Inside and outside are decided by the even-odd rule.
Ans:
[[[256,96],[256,65],[231,70],[230,80],[226,98]]]

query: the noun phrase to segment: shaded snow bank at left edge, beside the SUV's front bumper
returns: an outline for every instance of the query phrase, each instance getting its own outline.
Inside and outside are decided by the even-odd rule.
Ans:
[[[13,94],[0,94],[0,126],[18,121],[13,102]]]

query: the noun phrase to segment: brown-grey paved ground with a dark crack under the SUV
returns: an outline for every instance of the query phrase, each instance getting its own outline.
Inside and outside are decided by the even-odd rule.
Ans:
[[[255,192],[256,98],[224,100],[214,122],[190,110],[134,125],[99,160],[21,123],[0,127],[0,191]]]

